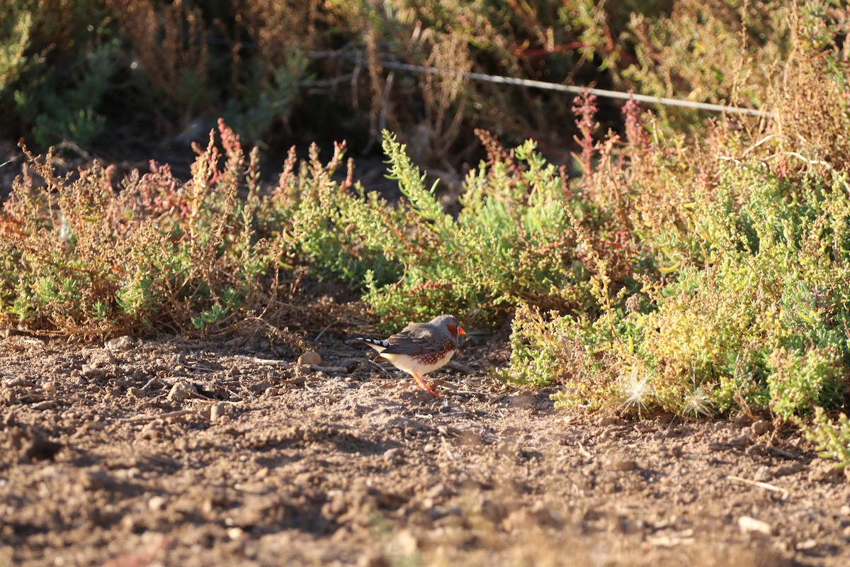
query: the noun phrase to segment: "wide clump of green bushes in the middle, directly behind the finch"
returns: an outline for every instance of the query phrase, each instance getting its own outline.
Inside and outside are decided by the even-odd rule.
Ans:
[[[307,167],[311,177],[291,178],[297,207],[286,232],[298,257],[325,277],[362,277],[365,300],[386,320],[452,311],[494,325],[522,302],[574,310],[595,304],[581,258],[588,244],[570,227],[584,223],[582,234],[605,241],[606,215],[566,189],[563,170],[533,142],[507,151],[480,135],[490,157],[467,175],[456,218],[390,133],[383,147],[402,196],[396,207]]]

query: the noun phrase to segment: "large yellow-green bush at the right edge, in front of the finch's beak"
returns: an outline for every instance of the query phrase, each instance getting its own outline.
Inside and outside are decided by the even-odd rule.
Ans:
[[[610,400],[612,384],[628,392],[635,376],[644,377],[651,388],[640,406],[680,413],[769,408],[788,419],[841,402],[850,375],[846,186],[840,178],[792,183],[761,162],[722,169],[710,192],[694,194],[691,230],[663,242],[679,251],[675,279],[646,289],[643,311],[613,307],[614,332],[600,320],[553,318],[538,343],[547,337],[542,342],[553,349],[579,337],[588,353],[604,346],[604,357],[580,360],[581,370],[542,365],[549,372],[536,382],[581,383],[598,405]],[[515,333],[522,338],[530,315],[520,315]],[[529,367],[524,358],[513,364],[520,379]],[[588,388],[581,371],[607,379]],[[572,395],[558,400],[575,404]]]

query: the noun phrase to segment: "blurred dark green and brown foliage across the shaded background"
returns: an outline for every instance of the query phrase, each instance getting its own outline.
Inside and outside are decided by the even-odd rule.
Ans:
[[[794,21],[806,31],[796,39]],[[835,2],[9,0],[0,121],[4,136],[39,150],[113,144],[116,132],[176,138],[216,116],[270,143],[297,111],[301,124],[334,128],[316,132],[326,138],[389,128],[420,163],[457,166],[471,126],[509,144],[534,138],[565,161],[575,128],[560,95],[381,61],[761,107],[775,103],[782,62],[834,43],[842,25]],[[701,119],[660,116],[674,129]]]

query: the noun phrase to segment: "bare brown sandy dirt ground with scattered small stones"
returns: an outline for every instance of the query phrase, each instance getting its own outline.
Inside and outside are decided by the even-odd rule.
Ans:
[[[0,338],[0,565],[850,564],[798,433],[556,411],[492,341],[434,399],[346,338]]]

